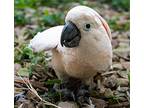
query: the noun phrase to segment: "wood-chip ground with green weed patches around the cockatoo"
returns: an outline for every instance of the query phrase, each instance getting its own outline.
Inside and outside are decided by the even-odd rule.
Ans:
[[[129,108],[129,0],[15,0],[15,108],[52,107],[43,100],[66,106],[62,94],[52,92],[53,85],[61,81],[52,69],[51,54],[33,53],[27,45],[37,32],[64,24],[67,11],[80,4],[97,10],[112,31],[113,65],[94,77],[97,86],[91,91],[93,104],[97,108]],[[28,88],[28,83],[43,100]]]

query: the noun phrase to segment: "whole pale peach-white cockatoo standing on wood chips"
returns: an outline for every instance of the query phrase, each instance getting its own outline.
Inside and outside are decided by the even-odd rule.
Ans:
[[[96,10],[80,5],[68,11],[64,25],[37,33],[29,47],[34,52],[50,50],[57,77],[70,92],[78,92],[111,67],[111,40],[106,20]]]

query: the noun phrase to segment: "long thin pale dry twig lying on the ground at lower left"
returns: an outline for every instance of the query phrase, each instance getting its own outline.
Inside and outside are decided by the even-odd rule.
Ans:
[[[56,108],[61,108],[61,107],[59,107],[59,106],[57,106],[57,105],[55,105],[55,104],[53,104],[53,103],[51,103],[51,102],[47,102],[46,100],[42,99],[42,98],[38,95],[37,91],[32,87],[30,81],[27,80],[27,82],[26,82],[26,81],[20,76],[19,73],[18,73],[18,75],[19,75],[19,77],[22,79],[22,81],[26,84],[26,86],[28,87],[28,89],[29,89],[32,93],[34,93],[42,102],[44,102],[45,105],[54,106],[54,107],[56,107]],[[28,83],[28,84],[27,84],[27,83]]]

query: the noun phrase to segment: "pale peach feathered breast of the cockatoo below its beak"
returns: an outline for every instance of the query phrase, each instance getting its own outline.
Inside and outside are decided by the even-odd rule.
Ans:
[[[76,78],[90,78],[98,71],[106,70],[112,61],[111,54],[108,52],[76,48],[64,52],[63,62],[68,75]]]

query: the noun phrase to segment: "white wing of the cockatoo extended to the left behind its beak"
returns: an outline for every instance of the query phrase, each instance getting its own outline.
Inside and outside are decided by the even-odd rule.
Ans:
[[[56,48],[60,43],[62,29],[63,26],[56,26],[37,33],[30,41],[29,47],[32,48],[34,52],[48,51]]]

